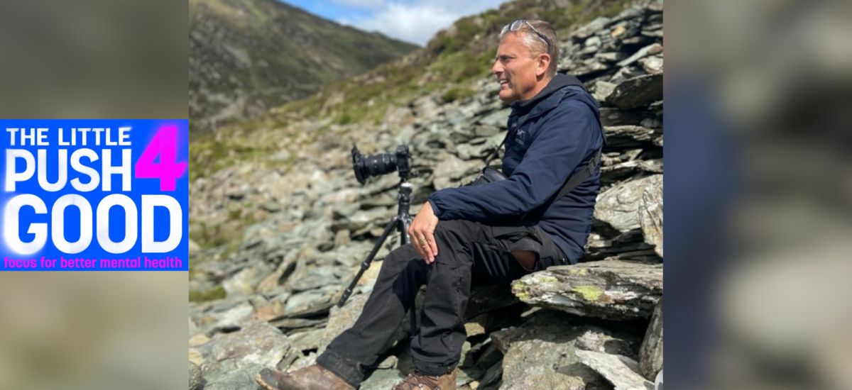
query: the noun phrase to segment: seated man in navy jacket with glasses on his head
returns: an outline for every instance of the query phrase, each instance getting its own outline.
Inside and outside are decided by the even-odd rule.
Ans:
[[[412,339],[415,373],[394,389],[456,388],[470,287],[505,283],[552,265],[574,263],[590,232],[602,131],[596,102],[582,84],[556,74],[556,32],[544,21],[504,27],[492,73],[512,104],[504,181],[434,192],[408,230],[412,244],[383,261],[354,326],[331,341],[317,364],[291,374],[262,370],[268,390],[353,390],[364,370],[427,284],[420,330]],[[590,169],[567,196],[569,177]],[[582,179],[582,178],[581,178]]]

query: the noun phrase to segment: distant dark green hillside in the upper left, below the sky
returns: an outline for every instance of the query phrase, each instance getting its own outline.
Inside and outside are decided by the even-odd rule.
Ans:
[[[418,49],[275,0],[189,1],[189,116],[216,129]]]

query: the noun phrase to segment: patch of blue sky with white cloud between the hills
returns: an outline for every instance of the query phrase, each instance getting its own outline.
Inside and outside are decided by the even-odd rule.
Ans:
[[[311,14],[368,32],[425,46],[463,16],[496,9],[509,0],[279,0]]]

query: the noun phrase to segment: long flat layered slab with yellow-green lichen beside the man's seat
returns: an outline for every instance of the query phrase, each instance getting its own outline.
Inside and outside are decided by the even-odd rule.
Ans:
[[[549,267],[512,284],[527,304],[613,320],[650,318],[663,295],[663,265],[653,261],[590,261]]]

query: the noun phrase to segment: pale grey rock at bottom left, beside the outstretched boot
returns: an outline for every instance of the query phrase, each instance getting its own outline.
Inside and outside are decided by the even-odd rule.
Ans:
[[[290,353],[299,353],[279,330],[259,320],[245,322],[237,332],[216,335],[204,351],[205,390],[256,388],[258,371],[276,367]]]

